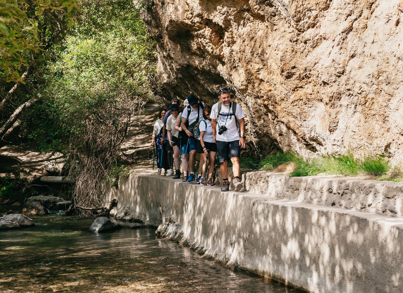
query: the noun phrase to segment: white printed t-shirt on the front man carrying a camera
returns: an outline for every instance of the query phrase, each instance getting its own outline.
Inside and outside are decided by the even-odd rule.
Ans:
[[[229,114],[233,114],[232,112],[232,102],[228,107],[221,105],[221,113],[218,115],[218,103],[214,104],[211,108],[210,118],[217,119],[217,127],[216,127],[216,140],[219,141],[235,141],[239,140],[241,137],[239,136],[239,129],[237,129],[237,124],[235,123],[234,115],[228,116]],[[243,112],[241,106],[237,104],[237,109],[235,110],[235,115],[237,119],[242,119],[245,117],[245,113]],[[218,116],[218,118],[217,118]],[[221,125],[225,125],[227,131],[222,133],[222,135],[218,134],[218,127]]]

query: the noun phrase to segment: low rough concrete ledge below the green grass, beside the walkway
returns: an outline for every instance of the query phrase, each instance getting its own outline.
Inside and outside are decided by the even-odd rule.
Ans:
[[[336,176],[289,177],[270,172],[249,172],[243,176],[245,189],[251,192],[403,217],[403,183]]]

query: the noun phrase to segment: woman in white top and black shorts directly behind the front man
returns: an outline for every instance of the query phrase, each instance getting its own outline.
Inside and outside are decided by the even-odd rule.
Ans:
[[[199,141],[197,143],[197,152],[201,154],[204,158],[204,162],[208,164],[208,180],[206,180],[206,165],[203,164],[202,168],[202,178],[200,179],[201,185],[210,185],[213,186],[213,173],[214,173],[214,163],[216,160],[217,154],[217,144],[214,142],[213,137],[213,129],[211,127],[211,107],[206,106],[203,109],[203,118],[204,120],[199,122]],[[207,161],[208,158],[208,161]]]

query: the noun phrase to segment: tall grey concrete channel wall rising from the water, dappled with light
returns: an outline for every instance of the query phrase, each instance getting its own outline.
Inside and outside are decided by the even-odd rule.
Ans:
[[[162,235],[229,266],[312,292],[403,291],[401,218],[155,175],[121,179],[110,197],[121,218],[162,224]]]

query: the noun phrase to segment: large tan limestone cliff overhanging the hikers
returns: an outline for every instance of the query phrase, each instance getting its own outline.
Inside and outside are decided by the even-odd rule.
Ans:
[[[163,85],[213,104],[230,87],[247,135],[310,156],[403,161],[401,0],[149,0]]]

